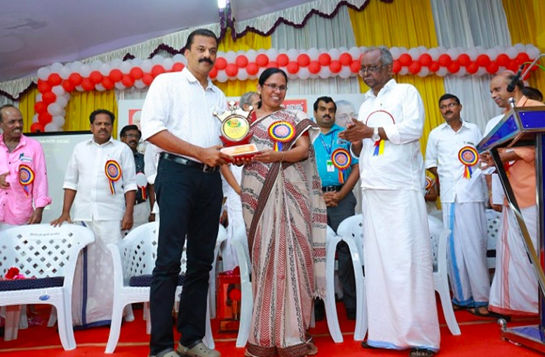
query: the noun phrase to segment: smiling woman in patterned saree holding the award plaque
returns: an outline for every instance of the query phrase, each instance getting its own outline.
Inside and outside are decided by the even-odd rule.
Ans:
[[[307,115],[283,109],[288,78],[266,69],[251,132],[260,154],[243,168],[243,217],[254,307],[245,356],[311,356],[314,297],[325,296],[327,214]]]

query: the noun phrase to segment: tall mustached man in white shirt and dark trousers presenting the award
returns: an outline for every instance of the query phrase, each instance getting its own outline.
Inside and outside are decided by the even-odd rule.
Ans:
[[[217,55],[217,37],[196,29],[187,38],[182,72],[157,76],[142,108],[142,138],[163,152],[155,180],[161,211],[159,245],[152,276],[150,313],[152,356],[176,357],[173,349],[172,308],[180,274],[180,258],[187,238],[177,330],[182,334],[177,352],[182,356],[216,357],[203,344],[208,274],[222,208],[220,166],[232,161],[223,154],[220,121],[227,100],[208,74]]]

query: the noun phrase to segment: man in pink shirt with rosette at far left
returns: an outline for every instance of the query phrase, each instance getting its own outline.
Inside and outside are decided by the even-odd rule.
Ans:
[[[0,231],[40,223],[51,203],[41,144],[22,135],[22,114],[13,105],[0,107],[0,128]]]

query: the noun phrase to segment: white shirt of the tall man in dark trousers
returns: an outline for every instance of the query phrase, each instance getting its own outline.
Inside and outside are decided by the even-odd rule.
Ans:
[[[149,87],[142,107],[142,140],[168,130],[199,147],[222,144],[221,121],[213,112],[221,114],[225,109],[225,95],[210,79],[205,90],[187,67],[182,72],[161,74]]]

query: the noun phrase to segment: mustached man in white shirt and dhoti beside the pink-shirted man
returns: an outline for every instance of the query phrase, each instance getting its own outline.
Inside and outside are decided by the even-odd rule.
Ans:
[[[95,242],[78,258],[74,277],[72,320],[81,328],[111,321],[114,276],[107,245],[121,241],[121,230],[133,227],[136,194],[133,153],[112,138],[114,114],[98,109],[89,119],[93,138],[74,147],[62,186],[62,214],[51,222],[81,222],[95,234]]]

